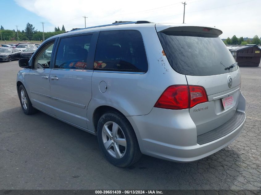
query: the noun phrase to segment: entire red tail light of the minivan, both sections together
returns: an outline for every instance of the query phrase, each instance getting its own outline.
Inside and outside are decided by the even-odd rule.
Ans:
[[[204,87],[172,85],[162,93],[154,107],[179,110],[192,108],[204,102],[208,102],[208,96]]]

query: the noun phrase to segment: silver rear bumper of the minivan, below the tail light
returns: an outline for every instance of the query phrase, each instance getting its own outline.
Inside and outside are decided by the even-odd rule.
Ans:
[[[229,120],[218,127],[223,126],[223,134],[217,133],[220,129],[214,129],[202,136],[202,142],[188,110],[153,108],[148,115],[127,118],[133,125],[143,154],[176,162],[192,162],[221,150],[240,135],[246,120],[242,95],[241,101],[242,105],[234,115],[237,122]]]

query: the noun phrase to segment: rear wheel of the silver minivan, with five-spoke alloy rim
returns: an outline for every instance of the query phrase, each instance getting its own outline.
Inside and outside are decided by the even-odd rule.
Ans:
[[[113,128],[118,130],[113,131]],[[99,146],[113,165],[128,167],[140,159],[142,154],[135,132],[122,114],[104,113],[98,121],[97,131]]]

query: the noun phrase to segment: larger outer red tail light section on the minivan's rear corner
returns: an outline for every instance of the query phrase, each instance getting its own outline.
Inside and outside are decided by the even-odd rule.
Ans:
[[[154,107],[186,109],[188,108],[188,97],[188,85],[172,85],[162,93]]]

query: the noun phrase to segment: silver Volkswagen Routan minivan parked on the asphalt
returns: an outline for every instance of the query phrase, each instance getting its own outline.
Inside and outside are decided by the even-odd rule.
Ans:
[[[23,112],[37,109],[97,135],[116,166],[141,154],[202,159],[235,140],[246,119],[240,70],[221,34],[137,21],[53,36],[29,62],[19,60]]]

